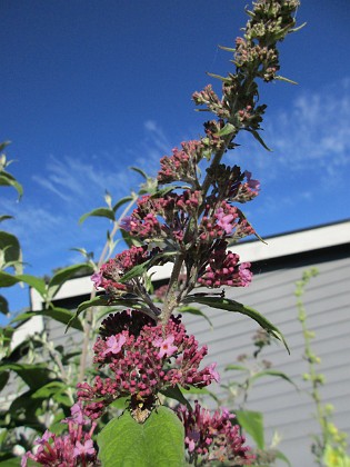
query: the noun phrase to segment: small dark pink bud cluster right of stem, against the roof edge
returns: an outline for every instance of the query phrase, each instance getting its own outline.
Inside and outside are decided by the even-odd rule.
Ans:
[[[206,287],[247,287],[251,282],[250,262],[239,265],[239,256],[227,251],[227,242],[218,242],[209,259],[209,265],[198,282]]]

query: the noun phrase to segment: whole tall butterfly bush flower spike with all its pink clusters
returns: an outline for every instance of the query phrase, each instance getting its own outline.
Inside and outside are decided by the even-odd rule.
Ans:
[[[128,398],[134,420],[143,424],[154,407],[157,411],[160,394],[173,396],[180,388],[204,388],[219,380],[216,364],[202,362],[207,346],[200,347],[187,332],[177,309],[198,297],[223,300],[228,287],[247,287],[252,280],[251,265],[241,261],[234,245],[258,236],[242,206],[259,195],[260,182],[249,170],[222,159],[237,146],[240,131],[268,149],[259,132],[267,106],[259,102],[258,81],[283,79],[278,74],[277,44],[293,31],[298,6],[298,0],[257,0],[253,10],[247,10],[243,37],[237,38],[234,49],[223,48],[233,53],[236,69],[227,77],[214,76],[221,81],[221,97],[211,85],[192,96],[199,110],[214,118],[203,123],[202,137],[181,142],[161,158],[157,188],[139,198],[120,225],[129,248],[92,276],[102,294],[99,304],[127,308],[102,321],[93,346],[99,375],[91,384],[78,385],[79,407],[92,427],[121,397]],[[169,284],[154,299],[148,272],[164,264],[171,266]],[[196,403],[194,409],[180,407],[177,414],[190,463],[253,461],[228,410],[211,415]],[[82,437],[80,428],[80,437],[44,435],[36,460],[47,465],[40,456],[61,453],[63,443],[69,461],[84,465],[93,454],[90,435]],[[54,461],[59,455],[52,454]]]

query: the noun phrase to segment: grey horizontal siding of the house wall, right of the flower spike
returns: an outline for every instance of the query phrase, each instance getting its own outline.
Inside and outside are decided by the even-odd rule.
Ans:
[[[299,390],[281,378],[261,378],[253,386],[246,407],[263,413],[267,444],[271,441],[273,431],[278,430],[282,437],[279,449],[287,455],[293,467],[314,465],[310,453],[310,436],[319,433],[313,419],[314,407],[306,393],[309,385],[301,377],[308,371],[308,366],[302,359],[303,338],[293,295],[294,282],[311,266],[317,267],[320,274],[311,279],[303,301],[308,327],[316,332],[312,348],[322,360],[319,371],[327,381],[320,393],[323,403],[334,406],[333,421],[338,428],[350,435],[349,256],[327,262],[313,260],[311,265],[300,259],[294,264],[289,261],[286,267],[257,274],[249,288],[230,289],[227,294],[228,298],[263,314],[283,332],[290,347],[291,354],[288,355],[280,342],[272,342],[262,356],[273,364],[273,368],[292,378]],[[252,352],[251,337],[258,325],[241,315],[206,307],[201,309],[212,321],[213,329],[210,329],[206,320],[187,316],[188,330],[196,334],[201,344],[208,345],[207,361],[218,362],[221,385],[226,385],[230,379],[237,379],[238,372],[224,371],[224,367],[237,364],[238,355]],[[216,390],[221,399],[227,398],[227,391],[219,385]]]

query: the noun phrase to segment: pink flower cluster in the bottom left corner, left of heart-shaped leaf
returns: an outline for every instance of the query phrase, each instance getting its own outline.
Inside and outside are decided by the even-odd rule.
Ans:
[[[28,451],[22,457],[22,467],[27,467],[28,459],[46,467],[100,465],[91,439],[96,424],[92,424],[89,431],[83,430],[83,426],[90,425],[90,420],[86,419],[80,404],[72,406],[71,417],[62,423],[68,424],[68,435],[57,436],[46,430],[43,436],[34,443],[39,446],[36,454]]]

